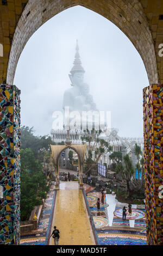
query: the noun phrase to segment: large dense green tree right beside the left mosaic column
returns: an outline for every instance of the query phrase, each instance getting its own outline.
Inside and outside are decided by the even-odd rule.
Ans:
[[[28,220],[48,191],[42,164],[35,159],[32,149],[21,149],[21,221]]]

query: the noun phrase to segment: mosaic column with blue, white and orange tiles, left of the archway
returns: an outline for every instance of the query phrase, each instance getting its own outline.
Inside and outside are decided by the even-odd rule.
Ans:
[[[20,242],[20,90],[0,85],[0,245]]]

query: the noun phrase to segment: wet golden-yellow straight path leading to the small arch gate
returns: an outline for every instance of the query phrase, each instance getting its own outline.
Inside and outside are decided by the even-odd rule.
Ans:
[[[53,215],[54,225],[60,231],[59,245],[95,245],[83,192],[77,182],[61,182],[57,191]],[[51,237],[49,245],[54,245]]]

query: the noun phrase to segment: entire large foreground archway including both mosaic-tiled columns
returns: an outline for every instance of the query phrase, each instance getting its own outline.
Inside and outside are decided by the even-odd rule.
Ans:
[[[8,147],[2,143],[0,151],[0,227],[3,230],[5,223],[9,229],[8,234],[1,231],[0,243],[18,244],[20,240],[20,91],[12,86],[16,65],[30,36],[51,17],[76,5],[95,11],[120,28],[145,64],[150,84],[143,90],[147,243],[162,245],[162,0],[0,2],[0,131],[1,141],[8,141]],[[3,110],[10,116],[7,120]]]

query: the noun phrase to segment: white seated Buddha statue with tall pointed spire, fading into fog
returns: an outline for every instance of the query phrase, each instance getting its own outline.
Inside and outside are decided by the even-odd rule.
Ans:
[[[67,127],[69,136],[72,138],[72,144],[82,144],[81,136],[84,135],[84,130],[89,129],[89,127],[95,127],[95,118],[89,119],[87,116],[83,116],[84,112],[96,112],[96,104],[93,101],[93,96],[90,94],[89,84],[84,82],[85,70],[82,66],[79,55],[78,40],[76,42],[76,53],[74,56],[73,67],[68,74],[70,78],[70,88],[64,93],[64,99],[62,103],[62,108],[64,110],[64,125],[63,129],[52,130],[51,135],[54,142],[59,143],[64,141],[67,137]],[[68,109],[68,115],[66,115],[66,110]],[[74,118],[73,113],[78,112],[78,116]],[[68,120],[68,121],[67,121]],[[72,122],[74,120],[74,122]],[[99,119],[97,120],[99,123]],[[68,124],[68,126],[67,126]],[[97,124],[98,125],[98,124]],[[90,130],[90,129],[89,129]]]

